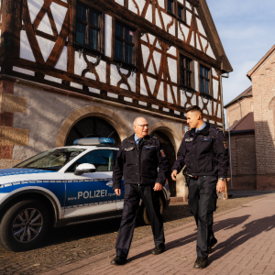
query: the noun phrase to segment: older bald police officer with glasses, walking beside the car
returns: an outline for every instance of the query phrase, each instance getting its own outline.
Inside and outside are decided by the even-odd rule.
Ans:
[[[113,265],[126,263],[140,199],[148,212],[154,235],[155,248],[152,254],[158,255],[165,249],[157,191],[161,191],[166,182],[168,160],[159,140],[148,135],[149,125],[145,118],[136,118],[133,126],[135,134],[122,142],[113,170],[116,195],[121,195],[122,176],[125,190],[122,220],[116,241],[117,256],[111,261]]]

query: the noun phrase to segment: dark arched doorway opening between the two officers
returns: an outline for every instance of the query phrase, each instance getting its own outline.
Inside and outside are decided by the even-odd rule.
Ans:
[[[176,193],[177,193],[177,189],[176,189],[176,182],[173,181],[171,179],[171,168],[176,160],[176,155],[175,155],[175,149],[174,146],[172,144],[172,142],[170,141],[170,139],[161,131],[154,131],[152,133],[152,135],[156,136],[161,143],[162,149],[164,150],[167,158],[168,158],[168,162],[169,162],[169,176],[168,176],[168,181],[169,181],[169,187],[170,187],[170,192],[171,192],[171,196],[175,197]]]

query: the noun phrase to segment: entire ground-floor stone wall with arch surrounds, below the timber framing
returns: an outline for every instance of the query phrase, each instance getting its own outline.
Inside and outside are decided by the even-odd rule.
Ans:
[[[71,128],[87,116],[104,118],[116,129],[121,140],[134,132],[134,119],[144,116],[150,125],[150,131],[158,130],[166,134],[174,145],[175,152],[181,144],[184,125],[180,119],[160,117],[153,112],[130,109],[111,102],[108,104],[101,99],[95,100],[92,97],[68,91],[49,91],[38,86],[18,83],[12,86],[12,91],[14,97],[12,102],[15,104],[19,100],[21,109],[10,107],[9,110],[13,111],[10,123],[1,125],[0,168],[12,167],[42,151],[64,146]],[[1,118],[3,117],[1,113]],[[5,121],[7,124],[8,120]],[[9,155],[5,152],[9,152]],[[186,199],[187,192],[180,173],[177,181],[177,196]]]

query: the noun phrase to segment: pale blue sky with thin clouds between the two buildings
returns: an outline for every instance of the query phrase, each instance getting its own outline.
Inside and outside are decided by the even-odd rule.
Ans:
[[[246,74],[275,44],[275,0],[206,0],[233,67],[224,104],[251,85]]]

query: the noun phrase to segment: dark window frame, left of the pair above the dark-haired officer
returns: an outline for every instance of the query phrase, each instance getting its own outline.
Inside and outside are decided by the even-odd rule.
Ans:
[[[183,62],[182,62],[183,59]],[[187,69],[186,61],[190,61],[190,69]],[[183,65],[183,66],[182,66]],[[182,72],[184,74],[184,83],[182,82]],[[187,85],[187,73],[190,74],[190,85]],[[194,91],[194,60],[183,53],[179,54],[179,86]]]

